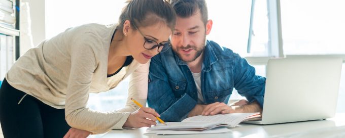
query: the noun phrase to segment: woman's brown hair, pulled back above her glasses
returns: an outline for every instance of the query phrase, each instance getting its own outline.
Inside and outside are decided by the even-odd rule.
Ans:
[[[117,29],[122,30],[126,20],[130,25],[146,27],[157,22],[165,23],[174,30],[176,22],[175,10],[164,0],[129,0],[122,9]],[[135,30],[135,27],[132,27]]]

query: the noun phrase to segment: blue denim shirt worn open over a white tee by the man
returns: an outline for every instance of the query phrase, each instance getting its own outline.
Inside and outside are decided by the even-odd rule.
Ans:
[[[228,103],[233,88],[249,102],[263,106],[266,78],[255,75],[255,68],[230,49],[207,41],[203,52],[201,91],[203,104]],[[148,105],[164,121],[182,121],[197,104],[193,75],[171,49],[151,59]]]

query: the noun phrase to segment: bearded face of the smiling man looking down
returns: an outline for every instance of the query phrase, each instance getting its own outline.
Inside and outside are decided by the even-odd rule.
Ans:
[[[200,12],[188,18],[177,17],[171,45],[181,60],[188,63],[198,58],[205,48],[205,39],[205,25]]]

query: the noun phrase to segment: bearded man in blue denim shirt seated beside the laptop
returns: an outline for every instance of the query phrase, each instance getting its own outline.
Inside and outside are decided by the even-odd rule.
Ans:
[[[238,54],[206,41],[212,20],[204,0],[170,3],[177,13],[172,49],[151,59],[148,105],[164,121],[195,115],[262,112],[265,78]],[[247,101],[227,105],[236,88]]]

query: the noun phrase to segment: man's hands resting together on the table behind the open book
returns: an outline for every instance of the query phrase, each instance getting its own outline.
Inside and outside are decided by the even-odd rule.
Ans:
[[[216,115],[216,114],[229,114],[229,113],[249,113],[249,112],[262,112],[261,107],[255,101],[248,104],[246,100],[239,100],[232,103],[230,106],[225,103],[213,103],[206,106],[201,115]]]

